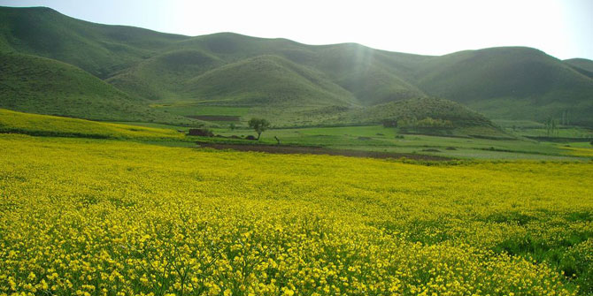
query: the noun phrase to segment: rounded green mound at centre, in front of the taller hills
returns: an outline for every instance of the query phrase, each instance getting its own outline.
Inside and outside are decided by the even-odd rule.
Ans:
[[[229,105],[351,105],[355,99],[320,72],[282,57],[244,59],[189,80],[196,100]]]

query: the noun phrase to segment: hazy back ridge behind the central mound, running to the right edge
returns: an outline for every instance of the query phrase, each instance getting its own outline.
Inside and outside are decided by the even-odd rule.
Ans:
[[[181,42],[226,60],[258,54],[285,57],[318,70],[361,105],[437,95],[490,118],[543,121],[569,114],[593,125],[593,82],[562,61],[527,48],[463,51],[443,57],[406,55],[358,44],[307,46],[284,40],[212,34]]]

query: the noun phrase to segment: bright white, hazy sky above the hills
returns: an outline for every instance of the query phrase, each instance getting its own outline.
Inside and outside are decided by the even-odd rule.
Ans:
[[[201,35],[235,32],[307,44],[357,42],[443,55],[528,46],[593,59],[593,0],[0,0],[76,19]]]

